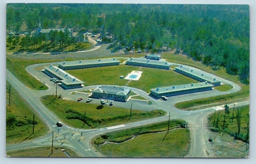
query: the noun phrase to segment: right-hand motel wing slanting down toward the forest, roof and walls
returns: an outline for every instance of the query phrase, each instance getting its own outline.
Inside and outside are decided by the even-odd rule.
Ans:
[[[220,85],[220,80],[216,79],[216,77],[212,77],[209,75],[205,75],[203,72],[197,72],[193,69],[187,68],[187,67],[183,67],[182,65],[180,65],[179,67],[175,67],[175,71],[182,74],[182,75],[186,75],[188,77],[191,77],[199,82],[205,82],[207,81],[208,83],[217,86]]]

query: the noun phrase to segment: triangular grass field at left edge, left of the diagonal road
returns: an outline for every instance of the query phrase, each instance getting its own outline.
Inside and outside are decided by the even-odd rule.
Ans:
[[[6,105],[9,105],[9,83],[6,82]],[[35,114],[35,131],[32,134],[33,114],[30,106],[11,87],[11,105],[6,106],[6,144],[20,143],[41,137],[48,132],[48,128]]]

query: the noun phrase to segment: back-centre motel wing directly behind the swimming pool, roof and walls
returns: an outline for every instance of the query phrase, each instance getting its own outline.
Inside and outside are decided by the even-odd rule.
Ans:
[[[126,61],[126,65],[139,66],[139,67],[151,67],[159,69],[170,69],[171,64],[167,61],[155,61],[141,58],[130,58]]]

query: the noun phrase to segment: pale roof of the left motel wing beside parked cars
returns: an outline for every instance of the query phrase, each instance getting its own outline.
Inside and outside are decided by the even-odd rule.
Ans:
[[[62,80],[60,80],[60,81],[66,85],[84,83],[81,80],[77,79],[76,77],[74,77],[74,76],[68,74],[67,72],[63,71],[62,69],[58,68],[57,66],[50,65],[48,67],[44,67],[44,69],[48,70],[52,74],[61,78]]]

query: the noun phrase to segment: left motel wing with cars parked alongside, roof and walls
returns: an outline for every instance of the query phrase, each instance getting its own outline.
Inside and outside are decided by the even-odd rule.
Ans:
[[[61,86],[65,89],[79,88],[84,83],[56,66],[44,67],[44,73],[60,80]]]

